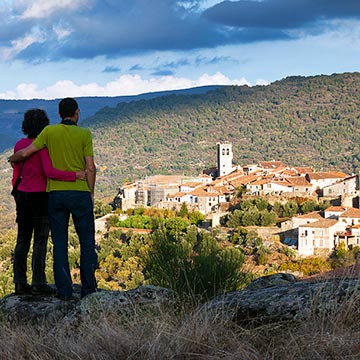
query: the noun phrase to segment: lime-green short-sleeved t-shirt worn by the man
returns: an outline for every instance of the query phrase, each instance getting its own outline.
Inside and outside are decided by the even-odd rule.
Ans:
[[[93,156],[92,136],[88,129],[76,125],[56,124],[46,126],[33,144],[49,151],[54,168],[67,171],[85,170],[85,156]],[[60,181],[48,179],[47,191],[90,191],[83,180]]]

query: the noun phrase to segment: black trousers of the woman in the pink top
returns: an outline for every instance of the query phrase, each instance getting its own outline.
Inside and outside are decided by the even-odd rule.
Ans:
[[[49,237],[47,199],[46,192],[19,191],[16,196],[18,233],[14,250],[14,283],[27,283],[27,258],[33,235],[32,285],[46,283],[45,263]]]

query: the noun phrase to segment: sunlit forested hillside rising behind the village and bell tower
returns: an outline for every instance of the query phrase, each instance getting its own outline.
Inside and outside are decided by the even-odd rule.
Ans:
[[[94,133],[104,193],[162,173],[216,165],[216,143],[234,162],[277,159],[317,170],[359,170],[360,74],[289,77],[268,86],[229,86],[105,108],[83,122]]]

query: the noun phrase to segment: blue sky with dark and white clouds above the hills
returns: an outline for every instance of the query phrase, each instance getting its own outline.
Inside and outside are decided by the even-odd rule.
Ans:
[[[0,99],[360,70],[360,0],[0,0]]]

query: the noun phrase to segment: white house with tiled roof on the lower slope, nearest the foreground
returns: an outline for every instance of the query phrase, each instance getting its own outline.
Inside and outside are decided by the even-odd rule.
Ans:
[[[336,219],[322,219],[300,225],[298,234],[299,255],[311,256],[330,253],[337,246],[336,234],[344,230],[344,224]]]

